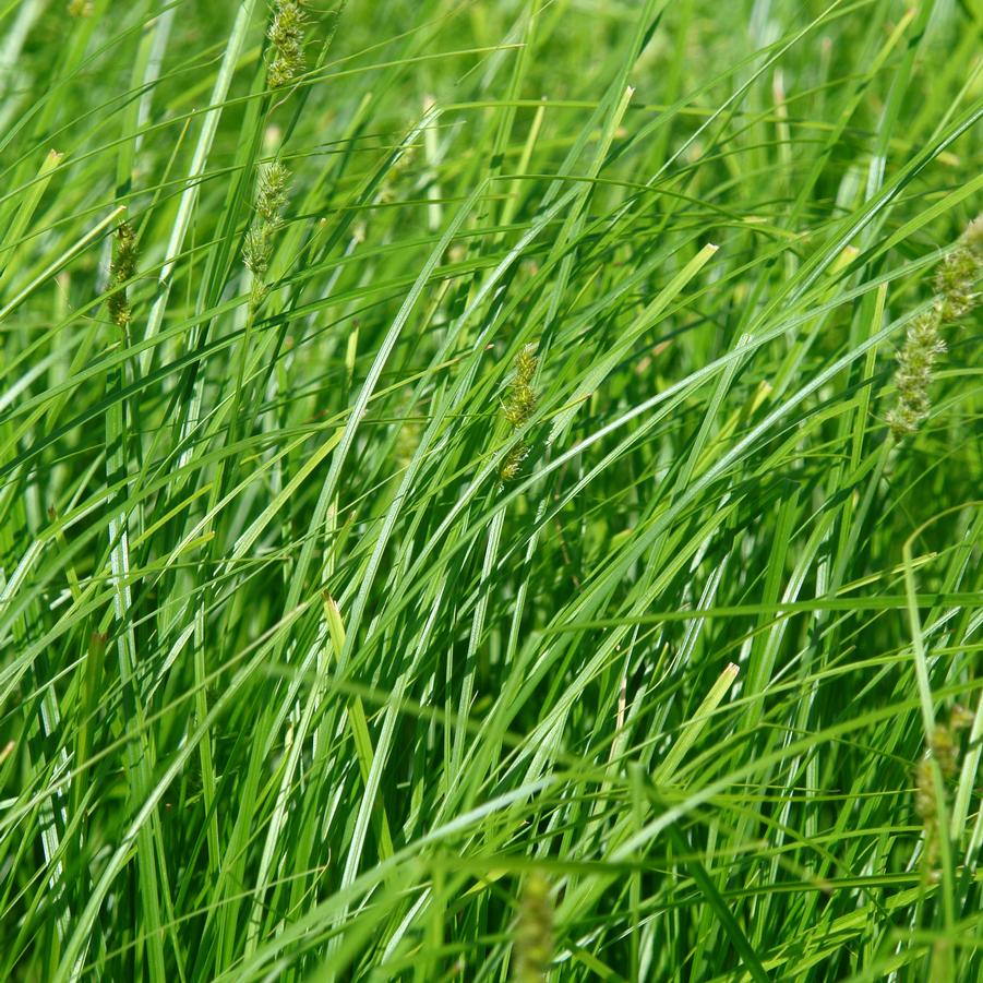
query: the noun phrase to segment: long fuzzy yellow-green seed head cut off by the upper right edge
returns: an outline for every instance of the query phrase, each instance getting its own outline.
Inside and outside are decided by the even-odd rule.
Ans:
[[[928,384],[946,350],[942,328],[968,314],[979,302],[983,272],[983,216],[969,224],[935,277],[935,303],[908,328],[895,372],[897,397],[887,422],[897,440],[914,433],[932,407]]]

